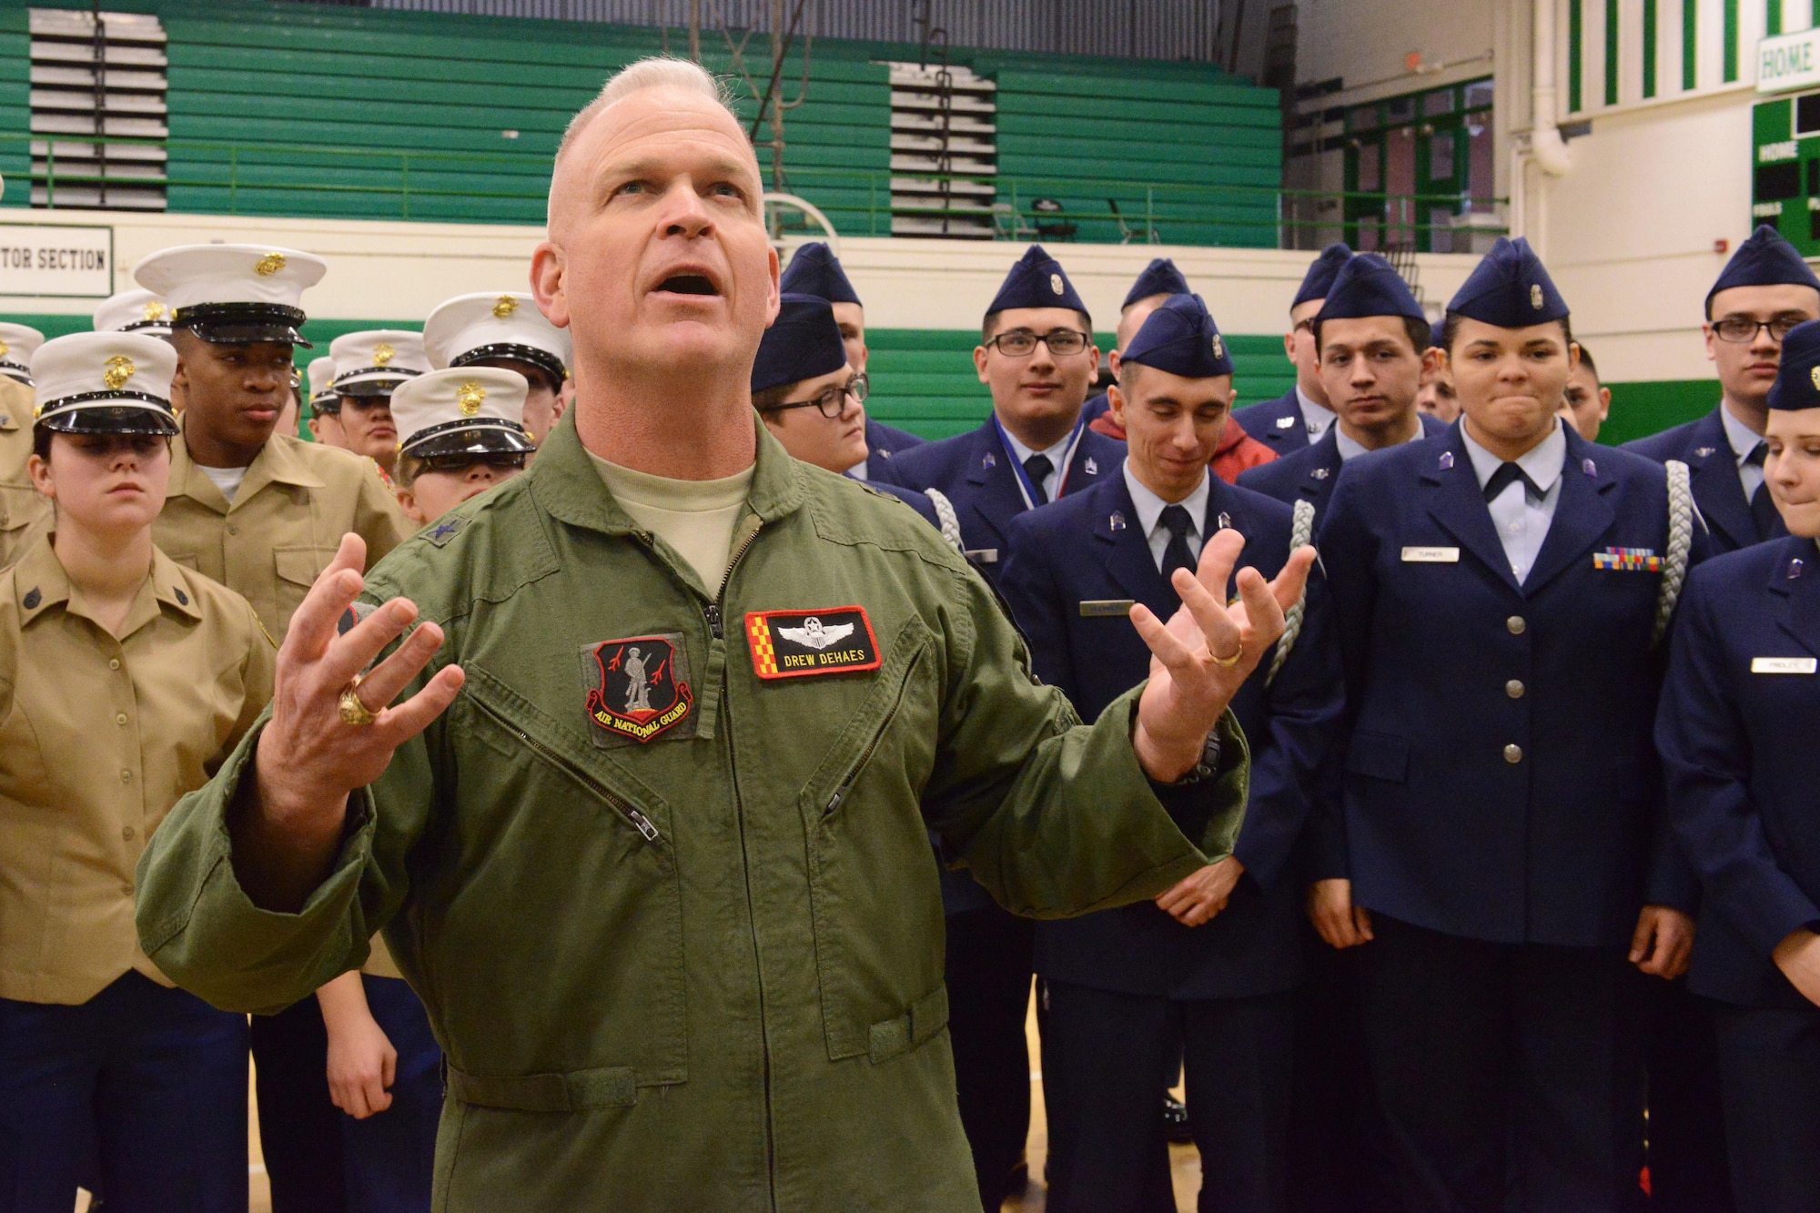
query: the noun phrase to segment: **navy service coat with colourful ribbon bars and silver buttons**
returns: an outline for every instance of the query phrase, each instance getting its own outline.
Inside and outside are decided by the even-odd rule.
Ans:
[[[1458,426],[1347,464],[1320,528],[1347,678],[1343,814],[1316,876],[1496,943],[1616,947],[1643,903],[1691,912],[1653,745],[1662,574],[1594,563],[1663,556],[1667,530],[1665,472],[1569,430],[1518,585]]]

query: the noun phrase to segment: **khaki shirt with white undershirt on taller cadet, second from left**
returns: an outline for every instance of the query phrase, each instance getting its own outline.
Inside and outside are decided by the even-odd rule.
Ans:
[[[151,528],[173,561],[244,594],[273,639],[348,532],[366,539],[368,568],[411,534],[379,466],[335,446],[271,435],[233,505],[171,441],[171,494]]]

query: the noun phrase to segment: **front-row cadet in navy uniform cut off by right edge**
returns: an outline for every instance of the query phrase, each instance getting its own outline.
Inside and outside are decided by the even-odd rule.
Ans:
[[[1687,579],[1656,718],[1745,1213],[1820,1209],[1820,324],[1780,366],[1765,475],[1789,535]]]

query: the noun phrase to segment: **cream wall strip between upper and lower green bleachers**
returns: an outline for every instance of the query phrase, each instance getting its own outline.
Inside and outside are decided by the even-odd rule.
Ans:
[[[439,302],[464,291],[528,290],[531,250],[544,235],[542,228],[118,211],[33,211],[31,220],[111,226],[115,290],[131,288],[133,266],[173,244],[277,244],[329,262],[322,284],[304,295],[311,315],[402,322],[420,322]],[[848,239],[841,242],[841,262],[874,328],[974,328],[1021,251],[1006,242]],[[1067,266],[1101,330],[1114,326],[1125,291],[1150,257],[1174,257],[1230,333],[1281,333],[1310,259],[1298,251],[1136,244],[1057,244],[1050,251]],[[1445,299],[1471,268],[1471,257],[1423,257],[1423,288]],[[0,293],[0,315],[86,315],[96,302]]]

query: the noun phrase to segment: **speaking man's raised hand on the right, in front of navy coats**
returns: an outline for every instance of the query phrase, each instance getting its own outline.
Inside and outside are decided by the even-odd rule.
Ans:
[[[1196,572],[1178,568],[1170,585],[1181,608],[1167,625],[1141,603],[1132,606],[1132,625],[1150,647],[1150,685],[1138,699],[1132,749],[1158,783],[1194,770],[1207,734],[1283,634],[1283,614],[1301,597],[1314,566],[1314,548],[1301,546],[1272,581],[1241,568],[1239,599],[1228,605],[1227,579],[1243,550],[1243,535],[1221,530],[1201,548]]]

